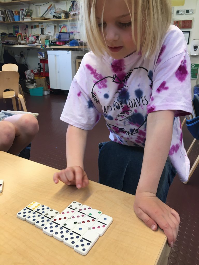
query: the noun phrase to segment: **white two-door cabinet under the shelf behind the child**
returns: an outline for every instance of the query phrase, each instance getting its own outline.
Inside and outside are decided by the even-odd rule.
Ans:
[[[77,56],[83,51],[47,51],[50,88],[69,90],[76,74]]]

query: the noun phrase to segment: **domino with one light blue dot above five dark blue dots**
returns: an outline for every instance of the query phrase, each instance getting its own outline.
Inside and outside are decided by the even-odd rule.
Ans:
[[[77,241],[79,241],[79,239],[84,235],[84,233],[88,230],[88,227],[82,225],[82,224],[77,224],[69,233],[69,235],[67,235],[64,238],[64,244],[74,248],[75,244],[77,243]]]

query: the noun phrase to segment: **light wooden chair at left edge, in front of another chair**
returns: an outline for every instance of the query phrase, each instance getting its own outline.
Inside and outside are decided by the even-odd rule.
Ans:
[[[19,98],[24,111],[27,111],[24,98],[19,94],[19,73],[16,71],[0,71],[0,99],[12,99],[14,111],[16,108],[15,98]],[[10,91],[5,91],[9,89]]]

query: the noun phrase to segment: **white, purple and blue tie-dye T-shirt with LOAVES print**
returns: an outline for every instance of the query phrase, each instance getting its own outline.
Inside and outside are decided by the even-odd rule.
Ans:
[[[104,116],[114,142],[144,147],[147,114],[175,110],[168,157],[181,181],[189,175],[178,116],[191,113],[190,58],[179,28],[171,25],[161,50],[150,59],[133,53],[121,60],[84,55],[60,119],[91,130]]]

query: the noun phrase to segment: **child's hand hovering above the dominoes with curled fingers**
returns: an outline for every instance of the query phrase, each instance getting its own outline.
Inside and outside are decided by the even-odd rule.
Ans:
[[[85,188],[89,184],[88,177],[80,166],[71,166],[62,169],[53,175],[53,180],[56,184],[61,180],[67,185],[76,185],[78,189]]]

